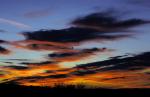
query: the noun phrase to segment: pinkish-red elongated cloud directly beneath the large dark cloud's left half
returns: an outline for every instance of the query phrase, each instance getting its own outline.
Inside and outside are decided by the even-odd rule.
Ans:
[[[18,49],[28,49],[33,51],[53,51],[53,52],[73,52],[73,46],[78,45],[74,43],[60,43],[49,41],[37,41],[37,40],[23,40],[12,42],[11,45]],[[66,47],[66,45],[68,45]]]

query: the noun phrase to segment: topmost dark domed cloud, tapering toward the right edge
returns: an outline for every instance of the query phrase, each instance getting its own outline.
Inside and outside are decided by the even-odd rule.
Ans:
[[[77,27],[88,27],[104,32],[120,32],[127,28],[132,28],[146,23],[150,23],[150,21],[136,18],[120,20],[118,16],[114,15],[114,13],[111,13],[110,11],[89,14],[87,16],[77,18],[72,22],[72,24]]]

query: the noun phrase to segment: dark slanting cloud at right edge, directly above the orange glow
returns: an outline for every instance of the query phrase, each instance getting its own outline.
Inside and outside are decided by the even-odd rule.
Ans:
[[[142,70],[150,67],[150,52],[135,55],[133,57],[114,58],[106,61],[82,64],[77,66],[81,70],[88,73],[89,71],[109,71],[109,70]],[[90,69],[89,69],[90,68]],[[86,73],[85,73],[86,74]]]

